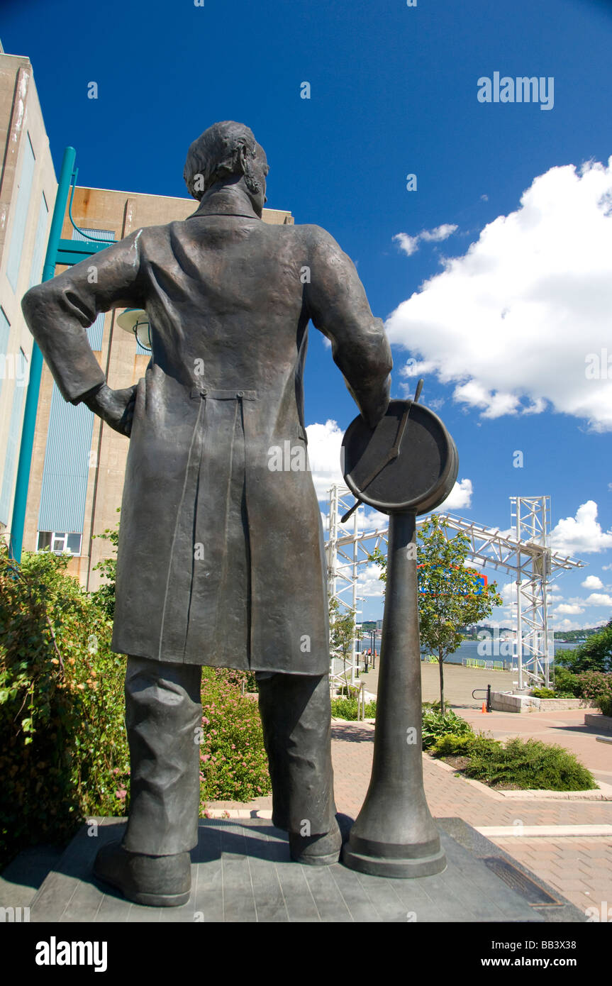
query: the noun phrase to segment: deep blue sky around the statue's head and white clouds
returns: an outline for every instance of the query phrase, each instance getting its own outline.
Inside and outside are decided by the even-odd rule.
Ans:
[[[185,195],[193,138],[218,119],[251,126],[271,167],[268,205],[329,230],[387,320],[393,395],[414,387],[408,360],[424,376],[423,400],[459,451],[450,509],[506,529],[511,495],[550,495],[556,546],[588,563],[559,580],[554,619],[609,619],[612,3],[3,6],[0,36],[33,62],[56,169],[73,144],[82,184]],[[478,80],[495,72],[541,78],[551,108],[544,95],[479,102]],[[312,330],[319,489],[355,413]],[[380,598],[364,604],[366,618],[380,611]]]

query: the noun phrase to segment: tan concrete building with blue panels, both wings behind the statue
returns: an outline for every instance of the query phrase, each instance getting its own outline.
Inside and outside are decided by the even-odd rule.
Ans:
[[[21,299],[41,278],[57,179],[32,64],[1,44],[0,141],[0,535],[8,538],[33,347]],[[191,198],[77,187],[74,225],[67,209],[62,239],[121,240],[141,226],[186,219],[196,207]],[[275,209],[264,209],[263,220],[293,224],[291,213]],[[118,326],[119,315],[101,315],[88,334],[108,385],[129,387],[150,355]],[[24,550],[69,551],[69,572],[90,590],[100,584],[94,566],[110,554],[95,535],[117,523],[128,441],[84,404],[66,403],[43,366]]]

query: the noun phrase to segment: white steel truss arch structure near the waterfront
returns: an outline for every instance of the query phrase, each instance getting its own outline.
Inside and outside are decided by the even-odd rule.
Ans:
[[[329,536],[325,545],[330,599],[337,599],[344,611],[358,613],[359,567],[367,564],[374,548],[387,543],[388,524],[379,528],[364,525],[363,508],[355,511],[344,527],[340,517],[355,503],[345,486],[329,491]],[[518,688],[526,681],[548,686],[553,658],[552,632],[548,627],[547,586],[563,571],[582,568],[584,563],[552,550],[548,543],[550,497],[510,497],[510,531],[486,528],[454,514],[440,514],[447,522],[446,536],[462,531],[469,539],[468,558],[479,566],[513,575],[516,583],[515,607],[516,660]],[[426,518],[417,521],[417,527]],[[361,522],[361,524],[360,524]],[[349,527],[352,530],[349,530]],[[361,529],[360,529],[361,528]],[[374,542],[374,543],[371,543]],[[383,551],[384,553],[384,551]],[[357,641],[348,668],[351,681],[358,667]],[[338,656],[332,653],[332,680],[341,677]]]

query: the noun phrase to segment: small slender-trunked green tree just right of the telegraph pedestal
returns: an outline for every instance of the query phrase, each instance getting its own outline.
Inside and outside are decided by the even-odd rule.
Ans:
[[[480,586],[478,573],[465,566],[470,549],[462,531],[447,538],[448,523],[433,514],[418,531],[419,629],[421,643],[434,654],[440,667],[440,707],[444,715],[444,671],[469,626],[490,616],[502,604],[495,582]],[[386,583],[386,558],[379,548],[369,556],[380,565],[379,578]]]

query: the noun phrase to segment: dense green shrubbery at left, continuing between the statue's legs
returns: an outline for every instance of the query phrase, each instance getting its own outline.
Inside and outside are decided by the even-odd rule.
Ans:
[[[68,556],[0,544],[0,866],[65,843],[91,815],[129,808],[125,657],[110,650],[112,593],[85,593]],[[252,672],[204,669],[202,802],[270,791]]]

